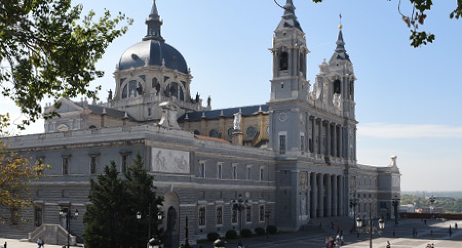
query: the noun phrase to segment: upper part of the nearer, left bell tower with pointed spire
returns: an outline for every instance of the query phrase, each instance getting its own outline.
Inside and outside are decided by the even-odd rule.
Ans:
[[[282,6],[281,6],[282,7]],[[306,80],[305,33],[295,16],[292,0],[287,0],[284,15],[274,31],[273,79],[271,80],[271,101],[306,101],[310,83]]]

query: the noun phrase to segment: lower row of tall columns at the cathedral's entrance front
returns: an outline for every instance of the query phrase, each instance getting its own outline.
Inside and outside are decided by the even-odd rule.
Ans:
[[[344,216],[345,186],[343,175],[310,173],[310,217]]]

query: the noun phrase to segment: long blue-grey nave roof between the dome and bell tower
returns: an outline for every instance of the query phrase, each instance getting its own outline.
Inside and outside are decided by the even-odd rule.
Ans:
[[[254,106],[244,106],[244,107],[235,107],[228,109],[215,109],[215,110],[203,110],[195,111],[190,113],[185,113],[178,118],[178,121],[184,121],[186,119],[189,121],[195,121],[200,119],[216,119],[220,116],[223,117],[234,117],[235,113],[242,111],[243,116],[255,115],[259,111],[267,112],[269,110],[268,105],[254,105]],[[204,117],[205,116],[205,117]]]

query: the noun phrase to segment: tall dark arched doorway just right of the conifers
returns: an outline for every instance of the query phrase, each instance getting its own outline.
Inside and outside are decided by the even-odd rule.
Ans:
[[[164,230],[165,230],[165,248],[178,247],[178,195],[174,192],[168,192],[164,196],[164,205],[162,211],[164,212]]]

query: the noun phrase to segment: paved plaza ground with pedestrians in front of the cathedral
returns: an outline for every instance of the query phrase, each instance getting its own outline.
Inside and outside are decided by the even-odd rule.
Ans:
[[[350,223],[351,222],[351,223]],[[434,243],[436,248],[461,248],[462,247],[462,230],[454,229],[455,221],[428,221],[424,224],[421,220],[400,220],[398,225],[393,221],[387,221],[385,230],[381,235],[373,235],[373,247],[385,248],[387,241],[391,247],[396,248],[425,248],[427,243]],[[243,243],[249,248],[324,248],[324,239],[328,236],[335,236],[337,226],[343,230],[345,248],[365,248],[369,247],[369,235],[350,233],[348,230],[353,225],[352,221],[334,222],[334,229],[329,229],[328,224],[323,223],[323,228],[318,224],[308,226],[305,230],[298,232],[270,235],[269,237],[253,237],[242,239]],[[452,226],[452,234],[449,235],[449,225]],[[462,225],[462,221],[458,222]],[[415,228],[417,235],[412,235],[412,229]],[[347,230],[347,231],[345,231]],[[395,235],[393,236],[393,231]],[[7,248],[32,248],[37,247],[33,242],[21,242],[15,239],[4,239],[0,237],[0,248],[7,242]],[[239,240],[230,240],[226,247],[237,247]],[[210,243],[199,244],[196,247],[210,248]],[[46,248],[61,248],[61,245],[45,245]]]

